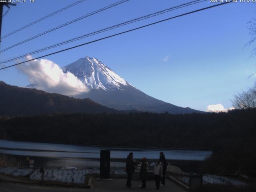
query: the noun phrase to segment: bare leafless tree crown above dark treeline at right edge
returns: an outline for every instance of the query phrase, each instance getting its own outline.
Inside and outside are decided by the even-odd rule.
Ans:
[[[231,101],[236,109],[256,108],[256,84],[247,91],[235,94]]]

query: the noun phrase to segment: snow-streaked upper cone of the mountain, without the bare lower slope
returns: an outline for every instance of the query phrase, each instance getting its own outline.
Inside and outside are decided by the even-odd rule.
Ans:
[[[122,86],[132,86],[100,60],[88,56],[64,66],[62,70],[71,72],[91,89],[122,90]]]

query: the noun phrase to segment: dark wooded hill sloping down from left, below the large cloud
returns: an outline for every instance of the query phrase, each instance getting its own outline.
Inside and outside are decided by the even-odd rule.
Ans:
[[[50,113],[117,113],[86,99],[70,98],[41,90],[20,88],[0,81],[0,116],[37,115]]]

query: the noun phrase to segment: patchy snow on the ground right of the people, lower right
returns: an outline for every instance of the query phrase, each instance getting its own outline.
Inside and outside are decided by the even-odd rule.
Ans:
[[[178,178],[183,182],[189,184],[189,176],[179,176]],[[229,178],[226,176],[218,176],[218,175],[203,175],[203,183],[204,184],[237,185],[237,186],[247,185],[246,182],[243,182],[241,180]]]

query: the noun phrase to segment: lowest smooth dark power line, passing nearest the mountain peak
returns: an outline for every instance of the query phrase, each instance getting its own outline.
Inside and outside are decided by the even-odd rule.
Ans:
[[[180,14],[178,16],[170,17],[170,18],[167,18],[167,19],[164,19],[164,20],[160,20],[160,21],[157,21],[157,22],[153,22],[153,23],[150,23],[150,24],[147,24],[147,25],[144,25],[144,26],[133,28],[133,29],[130,29],[130,30],[127,30],[127,31],[124,31],[124,32],[116,33],[114,35],[106,36],[104,38],[100,38],[100,39],[93,40],[93,41],[90,41],[90,42],[86,42],[86,43],[83,43],[83,44],[80,44],[80,45],[76,45],[76,46],[73,46],[73,47],[70,47],[70,48],[66,48],[66,49],[63,49],[63,50],[60,50],[60,51],[57,51],[57,52],[46,54],[44,56],[40,56],[40,57],[37,57],[37,58],[34,58],[34,59],[30,59],[30,60],[27,60],[27,61],[24,61],[24,62],[20,62],[20,63],[13,64],[13,65],[10,65],[10,66],[6,66],[6,67],[3,67],[3,68],[0,68],[0,70],[6,69],[6,68],[9,68],[9,67],[13,67],[13,66],[16,66],[16,65],[20,65],[20,64],[23,64],[23,63],[26,63],[26,62],[30,62],[30,61],[33,61],[33,60],[36,60],[36,59],[40,59],[40,58],[43,58],[43,57],[46,57],[46,56],[50,56],[50,55],[53,55],[53,54],[57,54],[57,53],[60,53],[60,52],[64,52],[64,51],[67,51],[67,50],[70,50],[70,49],[74,49],[74,48],[77,48],[77,47],[80,47],[80,46],[84,46],[84,45],[87,45],[87,44],[91,44],[91,43],[94,43],[94,42],[97,42],[97,41],[100,41],[100,40],[104,40],[104,39],[107,39],[107,38],[118,36],[120,34],[124,34],[124,33],[128,33],[128,32],[134,31],[134,30],[145,28],[145,27],[148,27],[148,26],[160,23],[160,22],[164,22],[164,21],[167,21],[167,20],[171,20],[171,19],[174,19],[174,18],[178,18],[178,17],[181,17],[181,16],[185,16],[185,15],[188,15],[188,14],[199,12],[199,11],[202,11],[202,10],[210,9],[210,8],[213,8],[213,7],[216,7],[216,6],[224,5],[224,4],[227,4],[227,3],[230,3],[230,2],[232,2],[232,1],[224,2],[224,3],[208,6],[208,7],[205,7],[205,8],[201,8],[201,9],[198,9],[198,10],[194,10],[194,11],[191,11],[191,12],[187,12],[187,13],[184,13],[184,14]]]

